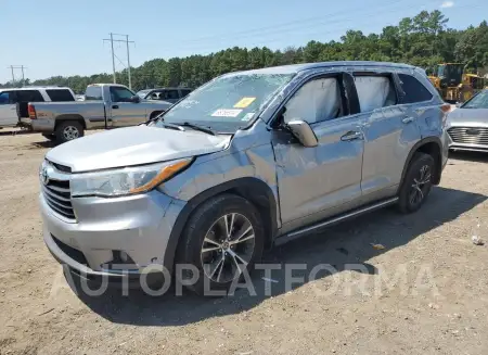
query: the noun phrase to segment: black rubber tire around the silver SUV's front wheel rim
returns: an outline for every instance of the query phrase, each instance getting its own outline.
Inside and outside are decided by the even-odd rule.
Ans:
[[[235,243],[231,246],[229,246],[230,243],[227,243],[227,249],[204,252],[204,249],[215,248],[214,243],[204,242],[205,237],[208,237],[209,239],[215,238],[215,240],[219,239],[220,237],[217,236],[217,232],[213,232],[214,228],[215,230],[218,230],[219,227],[223,227],[219,224],[219,221],[224,218],[223,216],[232,215],[235,216],[232,217],[235,218],[235,221],[234,219],[232,219],[232,225],[235,224],[235,229],[239,228],[239,231],[234,230],[235,238],[239,237],[242,230],[247,229],[248,223],[253,227],[253,230],[251,232],[254,231],[254,241],[253,239],[248,239],[248,237],[252,234],[251,232],[244,233],[243,237],[245,237],[241,238],[243,239],[243,242]],[[244,219],[246,220],[244,220],[242,217],[244,217]],[[242,226],[239,225],[240,220],[243,221]],[[228,224],[226,224],[226,226]],[[227,240],[230,240],[230,238]],[[251,242],[253,242],[254,246],[252,251],[251,249],[248,249]],[[244,264],[241,264],[241,266],[236,266],[236,264],[239,263],[236,263],[235,261],[239,261],[239,258],[232,256],[241,253],[237,248],[244,248],[242,250],[242,254],[239,254],[240,256],[243,256],[244,259],[246,258],[244,256],[244,252],[247,253],[248,263],[245,268],[247,272],[252,271],[254,268],[254,264],[256,262],[259,262],[262,256],[264,242],[265,229],[262,227],[262,220],[259,217],[259,212],[256,210],[256,207],[249,201],[241,196],[234,194],[221,194],[206,201],[192,214],[183,231],[183,234],[181,236],[176,261],[177,264],[191,264],[196,267],[196,269],[198,270],[197,281],[194,284],[187,286],[187,288],[200,295],[205,295],[205,289],[209,289],[211,291],[228,290],[235,279],[242,277],[242,274],[237,271],[237,267],[239,269],[244,270]],[[223,245],[223,243],[221,245]],[[218,248],[219,246],[217,246],[217,249]],[[234,248],[232,249],[232,254],[231,248]],[[224,250],[229,251],[229,253],[224,252]],[[216,275],[216,272],[214,272],[213,275],[215,275],[216,279],[221,278],[222,275],[224,276],[219,280],[219,282],[217,282],[207,274],[211,274],[215,265],[217,265],[217,267],[220,265],[218,262],[220,261],[220,258],[223,262],[221,262],[220,269],[218,269],[219,272],[218,275]],[[232,268],[235,269],[232,271]],[[191,271],[183,270],[183,280],[189,280],[192,276],[193,275]],[[228,280],[228,278],[231,277],[232,279]],[[179,282],[179,280],[177,280],[177,282]]]

